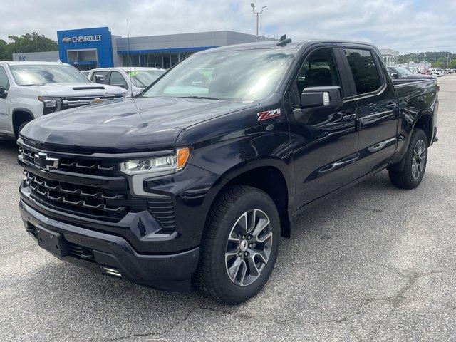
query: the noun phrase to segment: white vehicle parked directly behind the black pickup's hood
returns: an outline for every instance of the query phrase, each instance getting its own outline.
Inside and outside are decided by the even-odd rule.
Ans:
[[[125,88],[129,95],[135,96],[165,72],[159,68],[98,68],[91,70],[88,78],[96,83]]]

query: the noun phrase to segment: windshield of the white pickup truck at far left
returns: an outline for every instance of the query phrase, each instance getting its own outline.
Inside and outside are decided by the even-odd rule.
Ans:
[[[14,81],[19,86],[46,83],[89,83],[83,74],[72,66],[65,65],[22,65],[10,66]]]

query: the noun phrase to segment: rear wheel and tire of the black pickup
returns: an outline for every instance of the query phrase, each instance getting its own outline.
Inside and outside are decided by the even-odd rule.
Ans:
[[[420,151],[419,146],[424,147],[424,151],[420,153],[420,156],[417,156],[417,152]],[[408,145],[407,152],[404,155],[403,170],[389,170],[390,181],[395,187],[415,189],[420,185],[425,175],[428,146],[425,132],[420,128],[415,128],[410,138],[410,145]]]

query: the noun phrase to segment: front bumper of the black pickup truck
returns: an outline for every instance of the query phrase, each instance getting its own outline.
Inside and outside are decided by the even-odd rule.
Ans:
[[[60,234],[63,244],[85,251],[81,257],[63,252],[61,256],[56,256],[59,259],[103,274],[110,273],[106,269],[114,269],[122,279],[156,289],[190,289],[191,276],[197,269],[199,247],[177,254],[138,254],[123,237],[51,219],[22,200],[19,210],[28,232],[33,234],[34,229],[41,227]]]

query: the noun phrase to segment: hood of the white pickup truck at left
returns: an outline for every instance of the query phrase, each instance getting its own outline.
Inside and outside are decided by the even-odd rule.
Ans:
[[[85,83],[46,83],[43,86],[26,86],[48,96],[76,97],[76,96],[101,96],[125,94],[127,90],[120,87],[109,86],[92,82]]]

